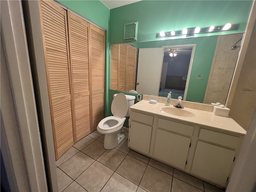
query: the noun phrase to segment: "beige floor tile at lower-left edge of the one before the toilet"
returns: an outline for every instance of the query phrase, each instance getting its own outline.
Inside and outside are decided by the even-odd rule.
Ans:
[[[76,182],[88,192],[99,192],[113,173],[113,170],[95,161],[76,179]]]

